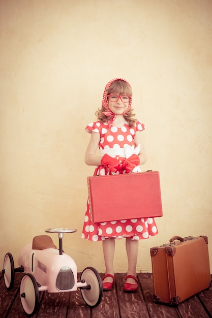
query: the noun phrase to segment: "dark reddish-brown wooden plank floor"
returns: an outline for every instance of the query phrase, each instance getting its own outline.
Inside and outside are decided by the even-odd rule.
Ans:
[[[20,280],[23,273],[15,274],[14,288],[8,291],[0,273],[0,317],[27,317],[19,295]],[[80,276],[80,274],[78,274]],[[103,276],[103,274],[101,274]],[[151,273],[137,274],[138,292],[123,292],[126,273],[115,274],[115,286],[112,291],[104,292],[100,305],[90,309],[84,303],[80,290],[68,293],[40,292],[39,311],[33,317],[38,318],[207,318],[212,317],[212,290],[205,290],[178,307],[155,304],[153,301],[153,279]]]

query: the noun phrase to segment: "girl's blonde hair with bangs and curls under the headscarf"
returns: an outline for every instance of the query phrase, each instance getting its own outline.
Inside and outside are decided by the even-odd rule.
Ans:
[[[109,94],[128,95],[131,97],[133,96],[133,92],[130,86],[125,81],[122,81],[122,80],[114,81],[110,85],[110,87],[107,89],[107,94],[108,95]],[[96,111],[95,113],[97,118],[101,120],[102,122],[107,122],[111,118],[102,113],[105,110],[106,109],[102,106],[102,108],[98,109],[98,111]],[[133,113],[132,108],[130,108],[130,110],[123,116],[130,127],[133,127],[135,125],[136,119],[134,118],[135,114]]]

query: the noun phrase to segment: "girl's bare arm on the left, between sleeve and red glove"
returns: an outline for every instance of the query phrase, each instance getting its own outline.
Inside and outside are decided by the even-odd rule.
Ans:
[[[85,152],[85,164],[88,166],[99,166],[101,164],[101,156],[97,156],[97,151],[100,141],[100,134],[92,132],[90,141]]]

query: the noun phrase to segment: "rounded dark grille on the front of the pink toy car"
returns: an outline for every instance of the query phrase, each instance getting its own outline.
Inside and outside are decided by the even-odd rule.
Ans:
[[[64,266],[60,269],[56,278],[56,288],[60,291],[72,289],[74,287],[74,274],[71,268]]]

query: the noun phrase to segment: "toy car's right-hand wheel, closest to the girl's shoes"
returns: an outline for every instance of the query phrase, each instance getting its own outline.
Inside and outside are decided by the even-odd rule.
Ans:
[[[85,303],[90,307],[97,307],[103,295],[102,280],[98,271],[93,267],[86,267],[81,274],[80,281],[87,283],[87,287],[81,288]]]

